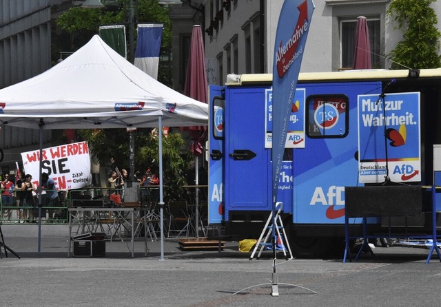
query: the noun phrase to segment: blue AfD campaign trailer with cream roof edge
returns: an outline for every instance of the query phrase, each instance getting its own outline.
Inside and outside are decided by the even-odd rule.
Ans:
[[[300,74],[278,185],[285,230],[297,256],[320,256],[331,251],[331,246],[338,246],[341,253],[345,187],[370,184],[373,181],[365,180],[369,176],[363,177],[368,173],[380,181],[385,177],[381,167],[360,168],[359,163],[359,156],[369,154],[365,149],[359,153],[364,148],[359,140],[370,140],[371,136],[371,129],[362,127],[363,121],[365,126],[380,125],[382,114],[377,113],[381,108],[377,113],[373,109],[382,94],[412,92],[413,98],[420,99],[420,105],[413,100],[409,105],[420,112],[413,118],[418,123],[415,131],[420,134],[416,136],[419,144],[413,148],[422,154],[416,159],[391,159],[396,163],[391,176],[411,177],[405,174],[411,167],[406,161],[416,160],[420,169],[412,169],[409,182],[433,183],[433,145],[441,143],[441,70],[416,73],[368,70]],[[225,86],[210,85],[209,92],[209,224],[223,224],[228,234],[257,238],[272,206],[271,74],[243,74]],[[389,109],[394,112],[391,120],[396,117],[405,123],[407,116],[409,122],[409,111],[401,115],[393,106]],[[393,126],[393,122],[388,124]],[[402,128],[392,130],[388,133],[401,136]],[[393,149],[389,154],[393,156]],[[366,157],[362,161],[369,163]],[[422,215],[407,222],[424,226],[425,220]],[[382,226],[380,219],[371,223]]]

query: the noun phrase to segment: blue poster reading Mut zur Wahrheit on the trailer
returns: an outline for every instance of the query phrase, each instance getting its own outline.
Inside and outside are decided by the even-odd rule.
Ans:
[[[358,96],[360,182],[421,181],[420,93]]]

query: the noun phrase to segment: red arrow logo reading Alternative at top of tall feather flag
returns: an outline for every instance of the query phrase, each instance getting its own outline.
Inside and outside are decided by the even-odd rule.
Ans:
[[[289,66],[294,62],[294,56],[297,51],[298,43],[302,38],[302,35],[307,32],[308,23],[308,3],[304,1],[297,7],[300,11],[300,15],[297,20],[296,28],[292,36],[289,38],[287,43],[283,45],[280,41],[280,45],[277,51],[277,72],[279,78],[282,78],[288,71]]]

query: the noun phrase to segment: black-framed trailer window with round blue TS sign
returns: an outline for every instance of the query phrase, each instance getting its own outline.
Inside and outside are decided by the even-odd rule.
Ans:
[[[344,138],[349,132],[349,99],[343,94],[311,95],[306,100],[307,136]]]

